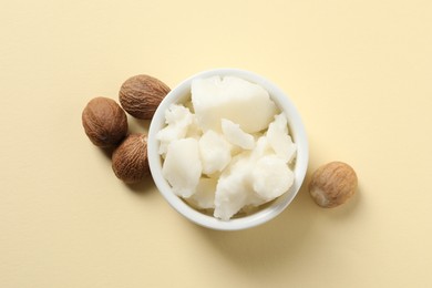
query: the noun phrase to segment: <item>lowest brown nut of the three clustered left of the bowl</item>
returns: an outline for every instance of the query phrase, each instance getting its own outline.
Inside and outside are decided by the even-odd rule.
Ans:
[[[147,135],[130,134],[112,155],[112,167],[125,183],[133,184],[150,174],[147,161]]]

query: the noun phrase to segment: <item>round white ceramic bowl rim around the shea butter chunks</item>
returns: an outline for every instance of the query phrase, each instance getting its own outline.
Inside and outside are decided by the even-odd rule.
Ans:
[[[160,143],[156,140],[156,134],[165,126],[165,111],[172,103],[183,103],[191,95],[191,82],[196,78],[209,78],[214,75],[233,75],[245,79],[249,82],[261,85],[266,89],[272,101],[278,105],[278,107],[284,111],[288,119],[288,125],[290,130],[290,135],[295,143],[297,143],[297,160],[294,168],[295,181],[291,188],[281,195],[279,198],[274,200],[270,205],[266,205],[263,209],[250,214],[244,217],[233,218],[230,220],[220,220],[213,216],[203,214],[178,196],[176,196],[167,183],[167,181],[162,175],[162,158],[158,154]],[[195,224],[200,226],[217,229],[217,230],[239,230],[245,228],[250,228],[260,224],[264,224],[277,215],[279,215],[296,197],[304,179],[308,166],[308,141],[305,132],[304,124],[301,122],[300,115],[297,112],[295,105],[290,99],[275,84],[266,80],[265,78],[257,75],[249,71],[238,70],[238,69],[215,69],[209,71],[204,71],[197,73],[179,85],[174,88],[162,101],[157,107],[153,120],[150,125],[148,138],[147,138],[147,153],[148,153],[148,163],[152,172],[153,179],[164,196],[164,198],[173,206],[181,215],[185,216],[187,219],[192,220]]]

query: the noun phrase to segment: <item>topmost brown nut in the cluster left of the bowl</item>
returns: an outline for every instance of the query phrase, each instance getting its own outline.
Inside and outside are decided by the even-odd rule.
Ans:
[[[142,74],[132,76],[123,83],[119,100],[122,107],[132,116],[151,120],[168,92],[169,88],[162,81]]]

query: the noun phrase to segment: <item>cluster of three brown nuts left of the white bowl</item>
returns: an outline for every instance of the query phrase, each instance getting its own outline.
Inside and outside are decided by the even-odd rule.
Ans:
[[[141,120],[151,120],[169,88],[150,75],[127,79],[119,93],[120,105],[109,97],[92,99],[82,112],[82,124],[90,141],[102,148],[114,148],[112,168],[125,183],[150,174],[147,135],[128,133],[125,111]]]

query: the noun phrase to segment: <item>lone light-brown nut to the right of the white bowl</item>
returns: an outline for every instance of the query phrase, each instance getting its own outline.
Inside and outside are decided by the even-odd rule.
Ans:
[[[319,206],[332,208],[348,200],[356,193],[357,185],[357,175],[351,166],[330,162],[313,173],[309,193]]]

